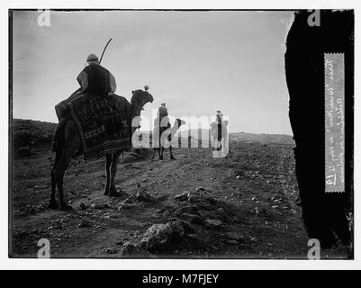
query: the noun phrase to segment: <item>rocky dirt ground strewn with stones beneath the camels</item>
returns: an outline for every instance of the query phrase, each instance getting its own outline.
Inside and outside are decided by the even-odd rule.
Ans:
[[[174,155],[170,160],[166,150],[164,160],[152,162],[150,150],[126,153],[118,198],[104,196],[103,158],[73,159],[64,180],[73,211],[47,208],[48,145],[15,157],[10,256],[37,257],[38,240],[47,238],[51,257],[307,257],[292,146],[232,141],[226,158],[212,158],[209,148],[175,148]],[[140,201],[140,192],[151,201]],[[203,198],[192,202],[182,193]],[[130,248],[153,224],[174,219],[191,223],[191,232],[161,251]]]

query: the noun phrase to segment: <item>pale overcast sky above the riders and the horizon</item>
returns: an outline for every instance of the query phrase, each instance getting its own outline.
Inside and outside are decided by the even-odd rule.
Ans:
[[[54,105],[77,89],[86,56],[100,57],[116,94],[148,84],[180,116],[230,118],[230,131],[292,134],[284,77],[291,12],[14,12],[14,118],[58,122]]]

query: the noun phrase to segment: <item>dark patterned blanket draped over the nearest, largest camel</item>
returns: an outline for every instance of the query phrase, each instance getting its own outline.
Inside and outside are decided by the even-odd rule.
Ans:
[[[73,94],[55,106],[59,121],[71,116],[85,158],[131,149],[131,104],[116,94]]]

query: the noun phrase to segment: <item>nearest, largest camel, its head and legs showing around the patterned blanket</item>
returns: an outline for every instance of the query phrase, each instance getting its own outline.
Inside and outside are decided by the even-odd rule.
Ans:
[[[131,119],[140,116],[143,106],[146,103],[152,103],[153,96],[147,91],[135,90],[132,91],[131,97]],[[132,125],[133,126],[133,125]],[[131,127],[133,133],[138,127]],[[71,206],[64,202],[63,179],[65,170],[72,157],[83,154],[82,142],[77,130],[75,122],[68,117],[66,122],[61,126],[58,133],[54,136],[54,149],[56,152],[54,166],[51,169],[51,196],[50,196],[50,209],[59,208],[60,211],[71,210]],[[106,157],[106,185],[105,195],[119,196],[120,193],[115,189],[115,174],[117,171],[118,158],[123,153],[122,150],[113,154],[107,154]],[[59,192],[59,205],[55,198],[56,188],[58,186]]]

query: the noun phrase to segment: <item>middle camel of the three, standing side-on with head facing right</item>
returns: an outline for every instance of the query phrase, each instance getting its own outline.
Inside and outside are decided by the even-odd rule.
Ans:
[[[156,122],[157,121],[159,121],[158,118],[156,119]],[[167,140],[170,142],[172,140],[173,136],[176,134],[176,131],[179,129],[179,127],[181,127],[184,124],[185,124],[185,121],[176,119],[176,121],[173,124],[173,127],[171,127],[169,123],[168,123],[167,127],[159,127],[158,125],[155,125],[155,128],[153,130],[153,145],[158,140],[158,145],[157,145],[158,147],[153,148],[153,156],[151,157],[151,160],[154,160],[154,157],[156,155],[156,150],[158,150],[159,160],[163,160],[164,146],[161,144],[163,142],[163,139],[161,139],[163,132],[170,129],[169,135],[168,136],[166,135]],[[169,143],[169,153],[170,153],[170,159],[175,160],[176,158],[173,157],[172,145],[170,143]]]

